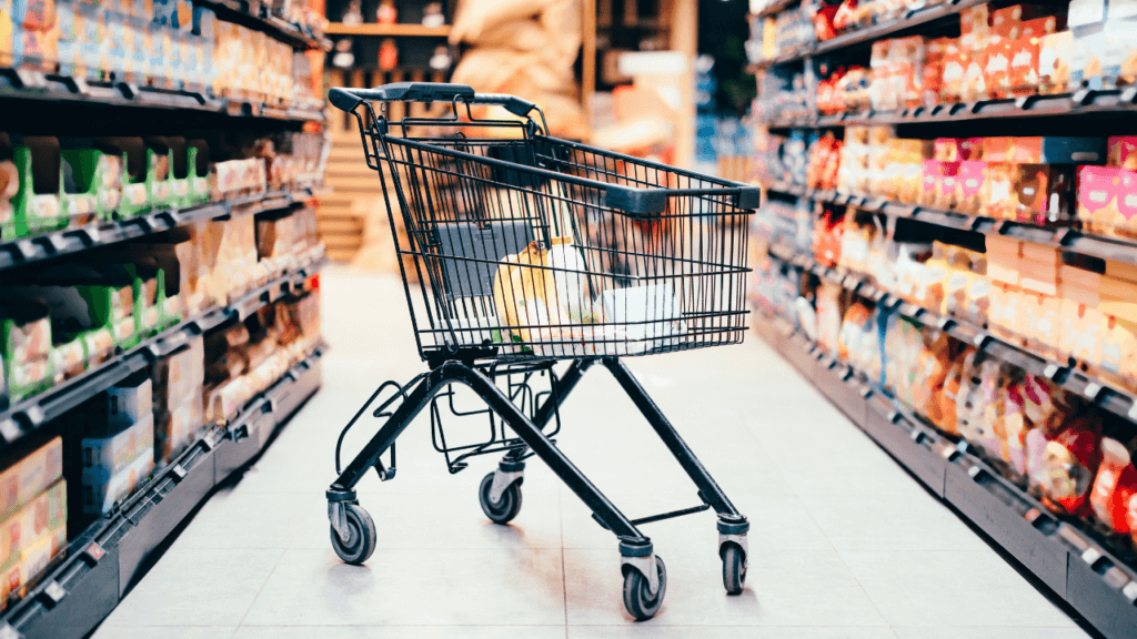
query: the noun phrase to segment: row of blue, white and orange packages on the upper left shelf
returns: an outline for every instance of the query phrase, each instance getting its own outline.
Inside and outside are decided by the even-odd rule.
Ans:
[[[293,19],[322,20],[293,2]],[[8,23],[8,28],[2,28]],[[41,0],[0,10],[0,66],[57,70],[289,103],[318,98],[323,55],[293,53],[268,34],[218,20],[190,0]]]

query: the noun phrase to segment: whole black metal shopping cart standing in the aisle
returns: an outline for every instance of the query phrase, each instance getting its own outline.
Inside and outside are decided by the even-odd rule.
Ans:
[[[619,538],[624,606],[636,619],[655,615],[667,583],[638,524],[714,508],[723,584],[740,592],[749,523],[620,358],[742,341],[748,217],[758,189],[549,138],[533,103],[465,85],[332,89],[330,99],[358,121],[392,229],[405,225],[396,251],[430,367],[406,384],[381,385],[340,434],[340,476],[326,493],[340,558],[359,564],[374,550],[375,524],[354,489],[370,468],[383,480],[395,475],[396,438],[430,404],[434,446],[450,472],[472,456],[504,454],[479,491],[490,520],[517,515],[524,460],[533,455],[592,509]],[[443,102],[447,115],[391,122],[390,101]],[[487,105],[520,119],[475,117]],[[571,364],[558,374],[561,360]],[[690,475],[699,506],[631,521],[556,447],[558,407],[597,363]],[[534,376],[548,380],[548,391],[533,391]],[[445,398],[462,413],[453,384],[488,405],[488,440],[447,442],[439,404]],[[341,471],[343,435],[368,410],[382,426]]]

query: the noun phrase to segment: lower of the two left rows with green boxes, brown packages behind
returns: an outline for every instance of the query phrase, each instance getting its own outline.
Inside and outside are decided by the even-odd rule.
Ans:
[[[259,227],[259,229],[258,229]],[[200,221],[83,254],[0,287],[5,348],[15,403],[105,362],[214,306],[225,306],[324,252],[315,211],[258,222],[251,215]]]

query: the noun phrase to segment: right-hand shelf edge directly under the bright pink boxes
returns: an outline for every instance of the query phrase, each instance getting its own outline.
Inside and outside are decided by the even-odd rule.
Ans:
[[[864,210],[883,213],[894,217],[906,217],[937,226],[1023,240],[1036,244],[1054,247],[1067,252],[1137,264],[1137,243],[1119,238],[1105,238],[1082,233],[1070,227],[1035,226],[1032,224],[1022,224],[1006,219],[966,215],[954,210],[894,202],[875,196],[843,193],[840,191],[819,191],[785,182],[767,184],[765,188],[770,191],[810,198],[819,202],[854,206]]]

